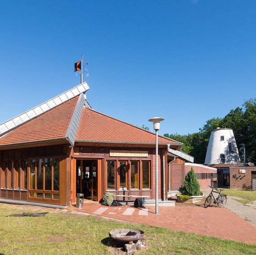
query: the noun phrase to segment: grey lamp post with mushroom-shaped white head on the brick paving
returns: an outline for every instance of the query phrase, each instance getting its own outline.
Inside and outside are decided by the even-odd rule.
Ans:
[[[149,119],[153,122],[153,128],[155,130],[155,214],[158,214],[158,130],[160,129],[160,121],[163,118],[154,117]]]

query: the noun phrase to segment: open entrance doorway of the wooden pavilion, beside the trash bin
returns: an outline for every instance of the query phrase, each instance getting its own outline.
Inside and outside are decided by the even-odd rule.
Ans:
[[[76,160],[76,193],[98,201],[98,160]]]

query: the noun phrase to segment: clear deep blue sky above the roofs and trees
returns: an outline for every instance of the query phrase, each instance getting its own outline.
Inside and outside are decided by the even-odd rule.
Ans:
[[[256,1],[0,1],[0,123],[79,84],[159,134],[198,132],[256,95]]]

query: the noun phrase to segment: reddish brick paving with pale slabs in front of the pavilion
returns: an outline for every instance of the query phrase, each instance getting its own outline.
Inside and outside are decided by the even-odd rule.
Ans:
[[[106,207],[99,203],[84,203],[82,209],[71,206],[78,212],[256,245],[256,227],[226,208],[176,203],[175,207],[159,206],[159,215],[154,214],[154,206],[146,205],[146,208]]]

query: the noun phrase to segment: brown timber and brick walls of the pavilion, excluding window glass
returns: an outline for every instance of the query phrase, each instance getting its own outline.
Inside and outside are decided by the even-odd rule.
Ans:
[[[56,144],[51,146],[39,146],[36,147],[26,147],[26,148],[17,148],[17,149],[9,149],[9,150],[1,150],[0,151],[0,198],[2,199],[15,199],[15,200],[23,200],[23,201],[34,201],[38,203],[55,203],[60,205],[70,206],[72,203],[75,203],[76,199],[76,160],[97,160],[98,162],[98,201],[100,201],[103,197],[103,194],[106,192],[106,162],[107,160],[115,161],[116,166],[118,166],[118,162],[120,160],[127,161],[128,164],[130,161],[149,161],[150,162],[150,188],[142,189],[139,186],[138,189],[117,189],[116,190],[108,190],[109,192],[115,195],[133,195],[133,196],[148,196],[149,199],[155,198],[155,148],[154,147],[138,147],[136,145],[125,146],[118,144],[116,146],[107,146],[99,144],[99,145],[91,145],[88,146],[85,143],[79,143],[75,145],[75,147],[69,147],[69,144]],[[113,157],[110,156],[110,150],[126,150],[126,151],[148,151],[147,157]],[[166,151],[166,147],[159,147],[159,169],[158,169],[158,178],[159,178],[159,199],[163,199],[163,153]],[[39,159],[39,158],[60,158],[60,199],[59,201],[50,201],[37,199],[37,198],[29,198],[28,191],[22,189],[20,186],[19,189],[9,189],[3,187],[3,174],[4,174],[4,162],[10,161],[14,162],[17,160],[26,160],[30,159]],[[176,159],[171,163],[171,176],[168,176],[168,163],[169,156],[167,159],[167,154],[165,154],[165,197],[168,197],[168,186],[171,186],[172,190],[177,190],[181,185],[181,180],[185,177],[185,163],[184,160]],[[141,169],[139,170],[141,171]],[[117,167],[116,167],[116,178],[117,178]],[[29,171],[28,171],[29,173]],[[27,174],[28,174],[27,173]],[[141,173],[139,173],[141,174]],[[9,178],[10,174],[6,176]],[[128,187],[130,187],[130,176],[131,173],[128,170]],[[22,173],[20,173],[20,182],[22,182]],[[7,180],[8,181],[8,180]],[[116,180],[115,180],[116,182]],[[170,182],[170,185],[169,183]],[[29,185],[29,180],[27,183],[27,187]],[[53,192],[54,193],[54,192]],[[119,197],[119,200],[127,200],[127,198]],[[130,198],[134,200],[135,198]]]

